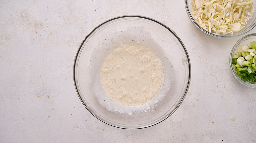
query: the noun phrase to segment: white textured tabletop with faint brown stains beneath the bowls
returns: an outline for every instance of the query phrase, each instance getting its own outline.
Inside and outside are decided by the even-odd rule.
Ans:
[[[86,35],[129,14],[170,27],[184,43],[192,70],[179,109],[138,130],[96,119],[73,83],[75,54]],[[183,0],[3,0],[0,17],[0,142],[256,142],[256,89],[236,81],[228,64],[242,36],[204,35],[190,22]]]

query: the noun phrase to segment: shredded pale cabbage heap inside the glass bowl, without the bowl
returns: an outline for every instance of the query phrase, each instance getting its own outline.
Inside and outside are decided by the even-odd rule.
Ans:
[[[240,31],[254,13],[254,0],[192,0],[191,15],[206,31],[216,35]]]

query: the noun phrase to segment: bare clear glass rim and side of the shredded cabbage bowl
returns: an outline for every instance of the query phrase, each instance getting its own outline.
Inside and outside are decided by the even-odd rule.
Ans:
[[[249,32],[250,30],[252,30],[255,26],[256,26],[256,13],[254,12],[254,14],[252,15],[252,18],[250,20],[247,21],[247,24],[245,24],[245,27],[242,28],[240,31],[237,32],[233,32],[233,34],[228,33],[225,35],[216,35],[216,33],[210,33],[207,30],[203,29],[196,21],[195,19],[192,17],[191,11],[192,11],[192,5],[191,5],[191,1],[192,0],[185,0],[185,8],[187,11],[187,15],[190,19],[190,21],[200,30],[202,31],[204,34],[209,35],[211,37],[215,37],[215,38],[220,38],[220,39],[229,39],[229,38],[234,38],[240,35],[243,35],[247,32]],[[256,2],[253,3],[253,7],[256,8]]]

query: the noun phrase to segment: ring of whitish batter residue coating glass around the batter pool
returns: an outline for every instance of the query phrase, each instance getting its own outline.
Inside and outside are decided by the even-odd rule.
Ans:
[[[112,100],[104,91],[100,81],[100,69],[102,61],[117,47],[123,45],[139,45],[150,49],[160,59],[164,66],[164,80],[159,93],[150,102],[138,105],[127,106]],[[165,62],[163,62],[165,61]],[[126,31],[115,32],[111,37],[106,38],[104,42],[100,42],[91,56],[90,76],[93,77],[92,91],[96,96],[98,103],[105,107],[108,111],[125,116],[136,116],[139,114],[150,114],[154,111],[154,107],[165,97],[173,84],[172,65],[165,56],[163,49],[152,38],[150,33],[146,32],[143,27],[131,27]]]

